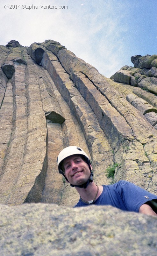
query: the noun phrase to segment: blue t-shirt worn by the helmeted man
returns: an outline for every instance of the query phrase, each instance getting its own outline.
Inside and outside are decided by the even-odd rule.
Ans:
[[[113,185],[103,185],[102,194],[92,204],[111,205],[123,211],[139,212],[139,207],[148,201],[157,199],[157,196],[134,185],[131,182],[120,180]],[[74,207],[88,206],[80,198]]]

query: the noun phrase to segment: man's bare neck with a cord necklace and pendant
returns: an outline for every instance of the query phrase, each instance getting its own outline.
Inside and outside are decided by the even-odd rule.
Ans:
[[[97,192],[97,186],[96,186],[94,181],[89,183],[87,188],[77,188],[77,187],[75,187],[75,188],[76,188],[77,192],[80,194],[80,197],[84,201],[88,202],[88,201],[93,200],[95,198],[95,195],[96,195],[96,192]],[[102,192],[103,192],[103,187],[99,186],[99,190],[98,190],[96,199],[101,195]]]

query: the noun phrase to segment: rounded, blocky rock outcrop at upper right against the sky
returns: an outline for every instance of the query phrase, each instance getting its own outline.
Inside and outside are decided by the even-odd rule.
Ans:
[[[122,83],[120,86],[127,91],[122,92],[120,88],[119,91],[157,129],[157,55],[135,55],[131,57],[131,61],[134,68],[124,66],[111,79]]]

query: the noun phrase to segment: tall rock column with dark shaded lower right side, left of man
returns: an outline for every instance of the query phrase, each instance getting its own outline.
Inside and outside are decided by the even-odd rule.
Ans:
[[[46,118],[41,101],[39,84],[35,76],[34,61],[25,53],[27,98],[27,135],[23,166],[17,181],[17,203],[39,202],[45,184],[47,170],[46,154]]]

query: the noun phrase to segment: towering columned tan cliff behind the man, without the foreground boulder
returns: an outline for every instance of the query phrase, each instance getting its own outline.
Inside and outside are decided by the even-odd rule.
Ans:
[[[111,79],[53,40],[0,46],[0,203],[73,206],[61,149],[91,157],[98,185],[157,191],[157,55],[136,55]],[[116,163],[114,180],[106,169]]]

